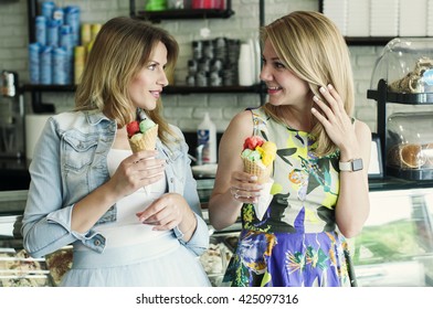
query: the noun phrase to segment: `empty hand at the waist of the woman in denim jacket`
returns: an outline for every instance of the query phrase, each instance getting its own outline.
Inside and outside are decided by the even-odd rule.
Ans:
[[[182,195],[167,193],[136,215],[141,223],[155,225],[154,230],[166,231],[178,226],[188,212],[192,213]]]

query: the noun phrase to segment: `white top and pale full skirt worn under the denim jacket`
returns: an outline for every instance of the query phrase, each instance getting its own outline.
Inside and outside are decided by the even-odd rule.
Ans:
[[[109,174],[130,154],[130,150],[112,149],[107,157]],[[106,238],[103,253],[76,242],[73,266],[62,286],[210,286],[199,258],[179,243],[172,231],[152,231],[136,216],[166,192],[166,182],[163,178],[122,199],[116,204],[116,222],[95,226]]]

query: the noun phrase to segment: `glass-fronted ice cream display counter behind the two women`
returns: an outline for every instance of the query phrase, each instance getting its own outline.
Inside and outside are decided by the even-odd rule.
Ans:
[[[212,179],[198,180],[203,216]],[[20,234],[27,191],[0,191],[0,287],[55,286],[67,269],[71,251],[33,259]],[[433,181],[370,183],[370,216],[350,239],[358,286],[433,286]],[[200,260],[213,286],[220,286],[237,244],[241,222],[223,231],[209,224],[210,248]]]

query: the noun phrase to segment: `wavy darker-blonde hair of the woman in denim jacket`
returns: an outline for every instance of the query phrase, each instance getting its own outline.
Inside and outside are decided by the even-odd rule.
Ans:
[[[75,110],[99,110],[119,128],[137,115],[128,85],[147,65],[151,51],[161,42],[167,47],[166,72],[172,72],[179,54],[176,40],[165,30],[147,22],[119,17],[107,21],[96,35],[75,94]],[[159,137],[168,142],[175,136],[162,117],[162,105],[145,110],[159,125]]]

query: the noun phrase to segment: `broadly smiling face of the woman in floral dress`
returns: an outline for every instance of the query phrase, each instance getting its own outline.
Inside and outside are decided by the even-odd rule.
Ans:
[[[297,77],[283,64],[270,40],[264,44],[260,77],[267,86],[270,104],[274,106],[300,104],[310,107],[311,95],[307,82]]]

